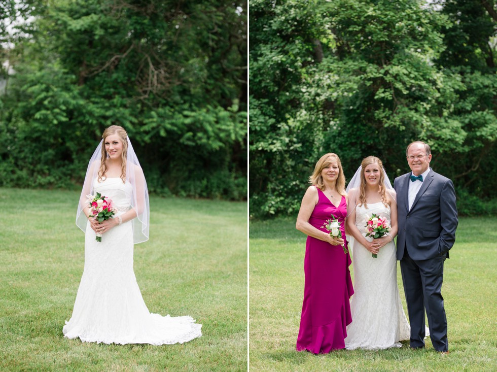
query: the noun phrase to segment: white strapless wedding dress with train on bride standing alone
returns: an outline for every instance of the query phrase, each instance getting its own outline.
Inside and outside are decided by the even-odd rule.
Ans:
[[[112,199],[119,210],[116,216],[129,208],[129,182],[107,178],[95,180],[94,187]],[[190,316],[173,318],[147,309],[133,272],[131,221],[103,233],[101,243],[88,222],[85,267],[73,315],[62,330],[65,337],[104,344],[182,344],[200,337],[201,327]]]

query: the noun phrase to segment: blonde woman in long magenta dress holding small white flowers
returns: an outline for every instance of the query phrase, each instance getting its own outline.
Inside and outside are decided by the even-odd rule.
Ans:
[[[307,234],[304,259],[304,302],[297,351],[326,354],[345,348],[346,327],[352,322],[349,298],[353,294],[345,238],[347,197],[340,158],[323,155],[316,163],[302,198],[297,229]],[[342,238],[333,237],[323,224],[338,219]],[[343,246],[342,246],[343,245]]]

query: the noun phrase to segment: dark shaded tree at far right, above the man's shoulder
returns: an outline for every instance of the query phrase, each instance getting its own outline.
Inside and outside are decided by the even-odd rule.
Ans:
[[[469,193],[484,199],[496,196],[497,181],[489,177],[497,157],[496,9],[487,0],[443,3],[442,13],[450,23],[442,29],[446,49],[437,64],[458,81],[450,112],[441,111],[445,125],[429,134],[437,140],[436,148],[446,153],[439,165],[455,179],[463,198]],[[453,131],[459,133],[455,141]]]

